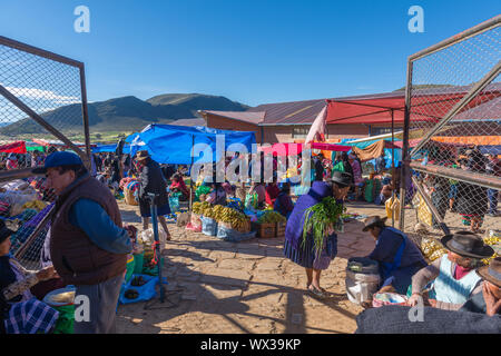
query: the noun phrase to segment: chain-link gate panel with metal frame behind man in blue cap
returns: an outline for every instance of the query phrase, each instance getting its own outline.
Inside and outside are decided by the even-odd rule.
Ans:
[[[31,169],[55,150],[89,165],[84,63],[0,37],[0,218],[16,230],[11,254],[29,269],[40,267],[56,199]]]

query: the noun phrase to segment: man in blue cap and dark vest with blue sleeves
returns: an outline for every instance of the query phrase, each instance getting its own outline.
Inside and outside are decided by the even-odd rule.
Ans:
[[[115,333],[118,296],[132,250],[115,197],[71,152],[55,152],[32,171],[45,174],[57,194],[50,216],[53,267],[65,284],[75,285],[77,297],[89,300],[90,319],[76,319],[75,333]]]

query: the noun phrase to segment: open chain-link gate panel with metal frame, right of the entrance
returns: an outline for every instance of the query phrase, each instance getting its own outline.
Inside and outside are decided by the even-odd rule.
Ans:
[[[500,34],[497,17],[410,57],[407,233],[501,237]]]

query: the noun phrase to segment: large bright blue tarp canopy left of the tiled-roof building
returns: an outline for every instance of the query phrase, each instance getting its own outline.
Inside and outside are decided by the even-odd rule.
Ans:
[[[253,144],[256,144],[256,137],[252,131],[151,123],[135,136],[130,144],[130,155],[134,156],[139,150],[147,150],[151,158],[159,164],[207,164],[218,161],[224,157],[225,150],[243,151],[245,147],[250,154]],[[216,150],[216,146],[219,148],[218,150]]]

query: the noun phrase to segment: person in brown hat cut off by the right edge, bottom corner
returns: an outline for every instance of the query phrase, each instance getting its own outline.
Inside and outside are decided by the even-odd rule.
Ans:
[[[501,314],[501,257],[491,260],[489,266],[480,267],[482,293],[473,295],[460,312],[483,313],[489,316]]]

